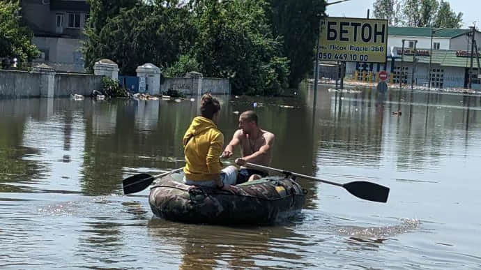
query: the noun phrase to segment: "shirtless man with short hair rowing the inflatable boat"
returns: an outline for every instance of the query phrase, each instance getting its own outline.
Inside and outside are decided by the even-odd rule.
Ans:
[[[257,114],[254,111],[246,111],[239,117],[239,129],[234,133],[231,142],[224,149],[224,157],[232,156],[234,147],[241,146],[242,158],[236,159],[239,166],[245,163],[255,163],[268,166],[270,163],[270,149],[274,145],[274,134],[261,130],[257,126]],[[261,177],[266,177],[267,172],[241,167],[238,172],[237,182],[244,183]]]

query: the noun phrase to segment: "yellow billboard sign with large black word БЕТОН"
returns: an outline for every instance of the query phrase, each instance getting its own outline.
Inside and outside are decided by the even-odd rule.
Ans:
[[[321,61],[385,63],[388,20],[325,17],[319,34]]]

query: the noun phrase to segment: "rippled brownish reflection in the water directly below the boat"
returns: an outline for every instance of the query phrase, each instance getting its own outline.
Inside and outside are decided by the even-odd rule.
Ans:
[[[178,225],[158,218],[148,222],[156,246],[176,243],[181,247],[179,269],[255,269],[312,267],[303,252],[293,252],[304,236],[289,227],[217,227]],[[226,241],[229,239],[229,241]],[[298,262],[298,263],[294,263]]]

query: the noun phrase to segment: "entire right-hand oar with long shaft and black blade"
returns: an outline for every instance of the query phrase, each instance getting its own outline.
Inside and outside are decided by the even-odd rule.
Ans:
[[[271,170],[271,171],[281,172],[283,174],[288,174],[288,175],[291,174],[291,175],[294,175],[296,177],[302,177],[302,178],[310,179],[310,180],[313,180],[313,181],[328,183],[328,184],[334,185],[334,186],[341,186],[341,187],[345,188],[347,191],[349,191],[349,193],[351,193],[352,195],[354,195],[354,196],[356,196],[360,199],[364,199],[364,200],[368,200],[368,201],[372,201],[372,202],[388,202],[389,188],[385,187],[385,186],[378,185],[377,183],[371,183],[371,182],[367,182],[367,181],[353,181],[353,182],[350,182],[350,183],[335,183],[335,182],[331,182],[331,181],[327,181],[327,180],[323,180],[323,179],[319,179],[319,178],[315,178],[315,177],[310,177],[310,176],[304,175],[304,174],[298,174],[296,172],[279,170],[279,169],[275,169],[275,168],[271,168],[271,167],[257,165],[257,164],[254,164],[254,163],[245,163],[245,165],[249,166],[249,167],[257,168],[257,169],[262,169],[262,170]]]

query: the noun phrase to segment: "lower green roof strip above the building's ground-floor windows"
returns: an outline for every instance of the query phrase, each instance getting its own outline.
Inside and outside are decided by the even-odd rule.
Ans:
[[[397,50],[402,50],[401,48],[396,48]],[[429,51],[426,50],[427,54],[425,56],[416,56],[417,63],[429,63]],[[460,56],[464,51],[454,51],[454,50],[433,50],[432,51],[432,64],[439,64],[441,66],[454,66],[459,68],[469,68],[471,65],[470,57],[467,57],[466,54]],[[473,66],[477,67],[478,63],[476,59],[473,59]],[[400,58],[397,58],[395,61],[401,61]],[[412,55],[404,55],[404,62],[412,62],[413,56]]]

